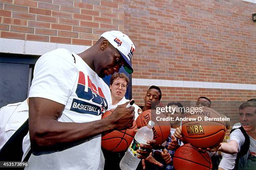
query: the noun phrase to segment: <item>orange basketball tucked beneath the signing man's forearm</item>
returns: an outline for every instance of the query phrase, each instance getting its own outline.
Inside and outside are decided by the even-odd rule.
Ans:
[[[106,111],[102,119],[109,116],[113,110]],[[101,146],[105,150],[112,152],[122,152],[128,149],[135,136],[134,130],[137,129],[135,120],[131,128],[125,130],[113,130],[101,137]]]

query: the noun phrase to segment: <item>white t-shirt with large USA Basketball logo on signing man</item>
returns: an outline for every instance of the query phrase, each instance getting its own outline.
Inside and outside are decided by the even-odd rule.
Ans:
[[[74,57],[72,56],[74,55]],[[43,97],[65,105],[60,122],[92,122],[101,119],[111,100],[110,89],[81,57],[66,49],[42,55],[35,65],[29,97]],[[93,129],[92,129],[93,130]],[[23,139],[23,159],[30,149]],[[65,150],[33,152],[31,170],[102,170],[101,135]]]

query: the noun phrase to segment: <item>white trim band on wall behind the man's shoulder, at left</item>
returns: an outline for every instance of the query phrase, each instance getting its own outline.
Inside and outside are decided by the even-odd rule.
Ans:
[[[57,48],[66,48],[70,52],[80,53],[90,47],[84,45],[15,40],[8,38],[0,38],[0,44],[0,52],[26,55],[43,55],[44,53]]]

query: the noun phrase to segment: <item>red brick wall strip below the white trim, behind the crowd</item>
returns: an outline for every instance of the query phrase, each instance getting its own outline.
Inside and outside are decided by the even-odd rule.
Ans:
[[[184,107],[194,107],[200,96],[209,97],[212,101],[211,108],[230,118],[231,125],[238,122],[238,107],[250,98],[256,97],[254,90],[231,90],[210,88],[186,88],[186,87],[160,87],[162,102],[166,104],[173,100],[179,101]],[[133,85],[133,99],[137,105],[144,105],[144,96],[148,86]]]

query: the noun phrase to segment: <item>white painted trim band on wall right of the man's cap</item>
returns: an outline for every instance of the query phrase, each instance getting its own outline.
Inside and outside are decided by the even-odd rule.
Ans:
[[[190,88],[217,88],[217,89],[238,89],[238,90],[256,90],[256,85],[223,83],[223,82],[196,82],[181,80],[152,80],[133,78],[133,85],[156,85],[160,87],[190,87]]]

